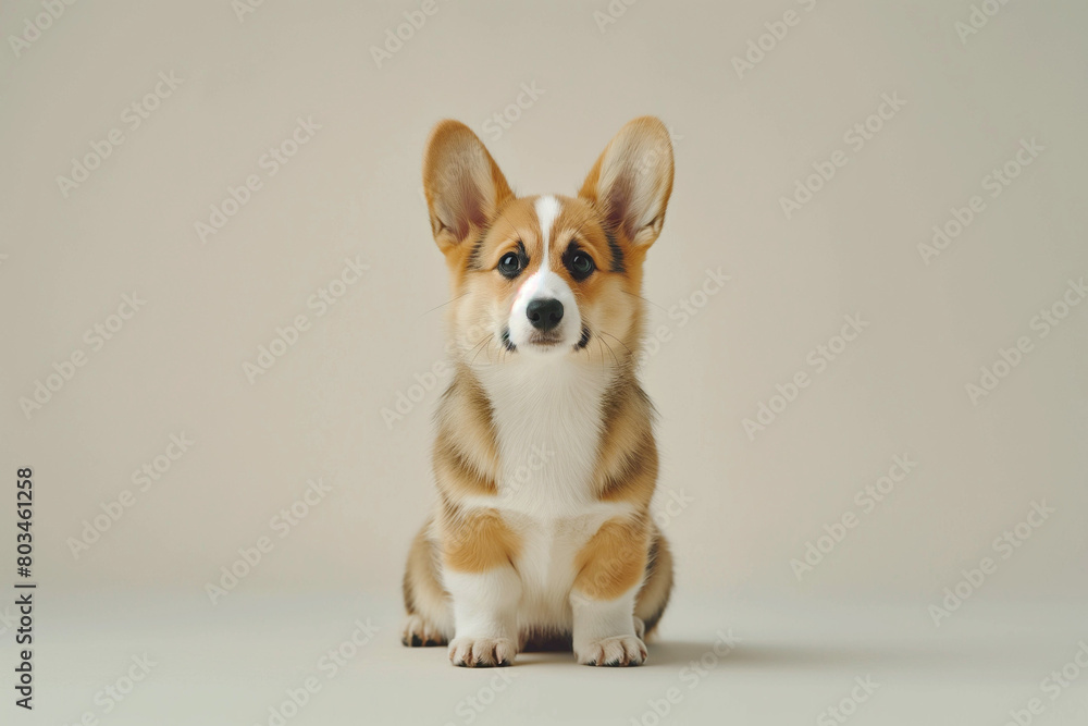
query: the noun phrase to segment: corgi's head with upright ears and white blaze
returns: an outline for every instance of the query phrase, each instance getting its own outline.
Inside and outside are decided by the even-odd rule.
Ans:
[[[577,197],[516,196],[477,135],[443,121],[426,145],[423,189],[452,275],[459,359],[554,360],[589,355],[594,343],[602,357],[633,357],[642,263],[672,190],[660,121],[623,126]]]

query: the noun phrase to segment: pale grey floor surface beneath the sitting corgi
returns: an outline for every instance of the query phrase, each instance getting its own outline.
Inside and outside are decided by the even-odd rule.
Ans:
[[[1053,688],[1042,689],[1088,642],[1085,613],[1072,606],[968,601],[936,628],[925,606],[714,602],[680,593],[643,667],[590,668],[569,654],[527,654],[512,668],[467,670],[450,666],[445,649],[403,648],[392,596],[235,592],[212,606],[199,596],[48,594],[40,593],[36,626],[37,707],[32,721],[5,724],[76,724],[90,713],[101,724],[140,726],[999,726],[1033,698],[1041,713],[1030,723],[1088,723],[1088,669],[1055,700]],[[376,631],[362,645],[345,644],[356,622]],[[321,659],[341,648],[343,666],[333,672]],[[154,665],[106,713],[103,689],[119,679],[126,688],[133,656],[144,654]],[[299,698],[307,702],[297,713],[288,706],[290,717],[276,719],[270,707],[307,679],[320,688]],[[866,681],[869,693],[857,686]],[[841,721],[827,711],[838,704],[850,712]]]

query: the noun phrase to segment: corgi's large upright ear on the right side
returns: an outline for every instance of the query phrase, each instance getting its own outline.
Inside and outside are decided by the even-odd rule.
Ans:
[[[631,244],[648,247],[662,233],[671,193],[669,131],[658,119],[641,116],[608,143],[578,194]]]

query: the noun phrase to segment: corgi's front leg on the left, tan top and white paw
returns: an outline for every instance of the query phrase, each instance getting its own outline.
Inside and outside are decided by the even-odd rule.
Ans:
[[[443,580],[454,604],[449,661],[479,667],[510,665],[518,654],[521,578],[517,540],[494,513],[458,522],[443,538]]]

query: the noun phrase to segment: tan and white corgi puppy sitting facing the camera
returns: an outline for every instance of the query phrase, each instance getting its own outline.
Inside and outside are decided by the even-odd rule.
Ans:
[[[642,264],[672,192],[655,118],[625,125],[578,196],[519,197],[472,131],[423,160],[446,258],[454,376],[438,405],[437,503],[404,576],[405,645],[457,666],[572,649],[640,665],[672,587],[650,513],[654,407],[635,377]]]

